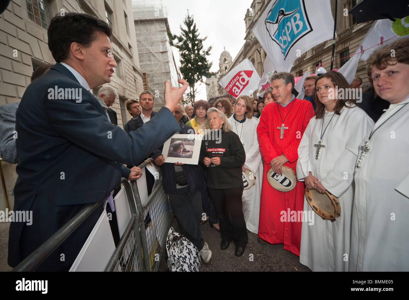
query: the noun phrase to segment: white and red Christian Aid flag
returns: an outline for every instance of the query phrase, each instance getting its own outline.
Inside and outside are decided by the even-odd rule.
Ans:
[[[237,99],[240,95],[249,96],[254,93],[259,81],[260,76],[258,76],[252,62],[246,58],[227,73],[219,81],[219,84],[227,93]]]

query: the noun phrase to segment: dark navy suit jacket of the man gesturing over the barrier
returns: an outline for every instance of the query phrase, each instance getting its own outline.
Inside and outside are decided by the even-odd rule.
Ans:
[[[56,86],[81,89],[81,101],[49,99]],[[137,165],[180,131],[169,109],[157,115],[126,133],[107,120],[98,100],[59,63],[27,87],[16,115],[20,162],[14,210],[32,211],[32,224],[10,225],[12,267],[81,209],[103,202],[121,177],[129,176],[121,163]],[[37,270],[68,270],[101,212],[95,211]]]

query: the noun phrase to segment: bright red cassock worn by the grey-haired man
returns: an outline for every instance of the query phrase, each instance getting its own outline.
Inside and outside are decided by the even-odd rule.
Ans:
[[[300,255],[302,223],[287,222],[287,218],[283,218],[284,213],[281,212],[284,211],[287,215],[288,209],[290,212],[303,210],[304,182],[298,181],[296,187],[291,191],[277,191],[267,181],[267,171],[271,169],[271,160],[284,154],[288,159],[284,165],[292,168],[294,173],[296,172],[298,145],[313,116],[312,104],[307,100],[295,98],[286,107],[276,102],[267,104],[257,126],[258,144],[264,167],[258,236],[271,244],[284,244],[285,250],[298,256]],[[281,139],[281,130],[277,127],[281,127],[283,123],[288,129],[284,129]],[[286,221],[281,222],[280,219]],[[288,220],[290,220],[289,217]]]

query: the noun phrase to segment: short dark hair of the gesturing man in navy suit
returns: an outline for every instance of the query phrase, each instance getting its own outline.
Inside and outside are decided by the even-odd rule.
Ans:
[[[90,47],[97,38],[95,31],[105,33],[108,38],[112,35],[112,28],[106,22],[86,13],[56,15],[48,27],[48,48],[55,61],[61,62],[68,57],[73,42]]]

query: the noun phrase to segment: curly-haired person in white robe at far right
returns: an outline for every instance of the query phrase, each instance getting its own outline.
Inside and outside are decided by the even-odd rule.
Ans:
[[[360,144],[349,269],[409,271],[409,39],[376,49],[366,72],[391,105]]]

